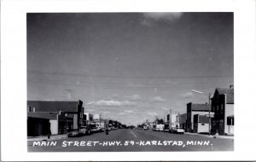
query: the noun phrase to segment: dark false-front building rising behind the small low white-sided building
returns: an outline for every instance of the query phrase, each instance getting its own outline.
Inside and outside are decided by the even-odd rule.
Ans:
[[[187,131],[188,132],[195,132],[194,130],[194,115],[205,115],[206,112],[209,112],[210,109],[209,104],[201,104],[201,103],[192,103],[189,102],[187,104]]]

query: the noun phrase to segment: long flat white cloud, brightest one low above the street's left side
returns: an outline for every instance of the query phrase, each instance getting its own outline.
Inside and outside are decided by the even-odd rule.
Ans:
[[[101,107],[133,107],[136,103],[132,101],[100,100],[96,101],[95,105]]]

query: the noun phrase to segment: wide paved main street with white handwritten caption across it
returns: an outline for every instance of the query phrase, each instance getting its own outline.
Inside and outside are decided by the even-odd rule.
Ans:
[[[232,139],[152,130],[113,130],[48,142],[29,141],[29,152],[233,151]]]

